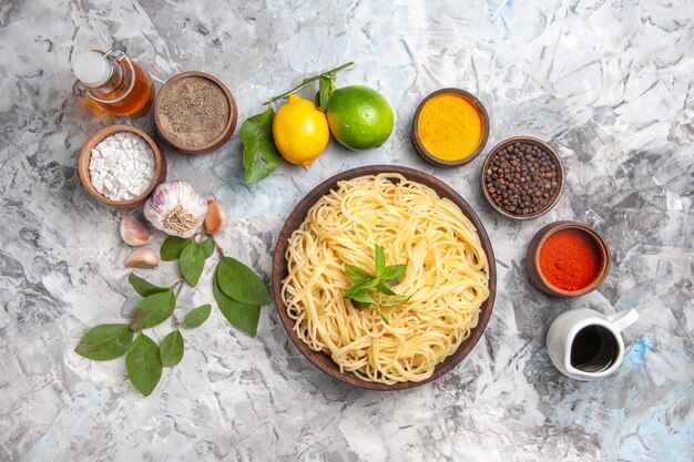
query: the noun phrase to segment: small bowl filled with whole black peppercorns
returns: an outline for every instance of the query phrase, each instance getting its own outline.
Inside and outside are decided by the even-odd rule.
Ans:
[[[502,141],[482,166],[482,193],[500,214],[532,219],[548,213],[564,191],[564,166],[545,142],[531,136]]]

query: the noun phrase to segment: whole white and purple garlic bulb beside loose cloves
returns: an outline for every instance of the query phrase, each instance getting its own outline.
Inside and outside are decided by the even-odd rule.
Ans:
[[[186,182],[163,183],[144,204],[144,216],[166,234],[191,237],[207,214],[207,201]]]

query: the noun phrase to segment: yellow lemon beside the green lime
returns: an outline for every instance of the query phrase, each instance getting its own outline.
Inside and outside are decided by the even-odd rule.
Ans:
[[[313,102],[293,93],[273,117],[273,138],[287,162],[308,170],[328,145],[328,121]]]

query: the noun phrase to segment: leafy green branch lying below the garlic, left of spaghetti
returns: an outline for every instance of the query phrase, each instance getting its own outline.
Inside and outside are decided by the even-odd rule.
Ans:
[[[215,249],[220,261],[212,280],[217,307],[228,322],[251,337],[257,333],[261,307],[269,304],[269,294],[263,280],[241,261],[224,255],[213,236],[203,234],[184,239],[167,237],[160,249],[162,260],[178,260],[181,278],[169,287],[155,286],[131,273],[130,285],[142,297],[135,306],[130,324],[106,324],[90,329],[74,351],[85,358],[105,361],[125,356],[125,369],[133,387],[150,394],[162,377],[162,368],[174,367],[183,359],[184,340],[181,328],[202,326],[212,312],[206,304],[190,310],[180,321],[174,310],[185,284],[197,286],[205,261]],[[160,345],[143,332],[144,329],[171,319],[174,330]],[[133,341],[134,335],[137,337]]]

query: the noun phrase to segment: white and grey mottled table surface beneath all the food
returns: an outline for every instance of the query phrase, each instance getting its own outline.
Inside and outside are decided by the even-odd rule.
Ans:
[[[691,461],[693,17],[686,0],[1,1],[0,460]],[[376,88],[396,111],[381,148],[331,142],[309,172],[283,165],[249,187],[236,133],[206,156],[166,147],[169,177],[224,204],[223,245],[269,280],[282,224],[318,182],[376,163],[435,174],[478,212],[498,258],[494,311],[470,357],[409,391],[353,389],[299,355],[273,306],[256,339],[214,311],[149,398],[122,360],[76,356],[89,327],[136,300],[123,212],[90,199],[75,171],[89,134],[119,120],[72,97],[71,62],[113,43],[157,85],[215,74],[242,120],[302,76],[355,61],[338,83]],[[491,211],[483,156],[442,171],[416,155],[412,114],[442,86],[484,102],[488,147],[520,134],[557,147],[568,184],[550,214],[513,223]],[[125,122],[153,132],[151,114]],[[605,284],[572,300],[541,295],[522,269],[532,235],[558,219],[594,226],[612,249]],[[165,264],[151,277],[174,274]],[[185,294],[212,300],[206,286]],[[576,382],[551,366],[547,328],[575,307],[639,311],[615,376]]]

